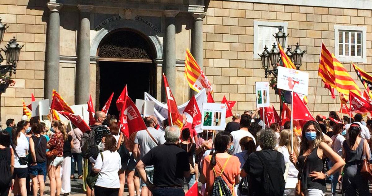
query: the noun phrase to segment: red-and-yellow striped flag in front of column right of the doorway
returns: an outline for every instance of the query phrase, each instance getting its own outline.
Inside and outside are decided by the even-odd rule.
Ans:
[[[202,69],[200,69],[189,49],[186,49],[185,77],[190,88],[192,88],[194,91],[200,92],[203,88],[205,88],[206,91],[213,93],[211,84],[209,83]]]

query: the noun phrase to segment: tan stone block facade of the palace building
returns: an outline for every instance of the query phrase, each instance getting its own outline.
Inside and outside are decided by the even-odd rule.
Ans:
[[[64,0],[64,2],[74,2]],[[167,32],[167,20],[164,10],[169,7],[178,10],[175,16],[175,89],[172,89],[178,104],[182,104],[189,98],[187,83],[183,85],[183,70],[186,48],[193,48],[193,27],[196,17],[194,11],[190,11],[189,4],[198,4],[198,1],[157,1],[149,12],[146,2],[118,1],[110,5],[102,6],[102,1],[90,0],[94,7],[87,17],[90,20],[90,83],[89,91],[92,97],[96,92],[96,66],[97,48],[99,36],[103,30],[117,26],[148,28],[143,22],[135,17],[140,16],[151,22],[157,30],[150,34],[159,42],[161,58],[163,56],[163,39]],[[96,2],[96,4],[95,4]],[[121,7],[121,2],[126,6]],[[58,3],[58,1],[57,1]],[[150,2],[151,4],[151,2]],[[142,6],[142,7],[141,7]],[[367,63],[358,63],[362,69],[372,72],[372,18],[371,10],[328,8],[314,6],[296,6],[279,4],[248,3],[241,1],[209,1],[207,5],[199,6],[206,11],[203,18],[203,69],[214,88],[214,99],[219,102],[225,95],[227,99],[237,101],[234,111],[242,112],[256,107],[254,84],[256,81],[266,81],[264,70],[261,68],[259,59],[254,59],[254,20],[270,22],[287,22],[289,36],[287,43],[295,45],[297,42],[301,49],[306,50],[302,70],[310,75],[309,107],[314,110],[314,99],[316,103],[315,113],[326,114],[335,110],[334,101],[330,98],[327,89],[322,88],[320,79],[317,81],[317,70],[319,62],[320,45],[324,44],[334,52],[334,25],[365,26],[366,27],[366,54]],[[197,7],[197,6],[196,6]],[[60,9],[60,72],[58,90],[65,100],[74,105],[76,65],[79,48],[80,10],[76,5],[64,4]],[[195,15],[195,14],[194,14]],[[120,16],[120,20],[102,25],[102,22],[111,17]],[[6,0],[0,3],[0,18],[2,22],[9,25],[4,40],[16,36],[23,47],[20,62],[17,65],[16,85],[7,89],[1,95],[1,117],[3,123],[7,118],[20,119],[22,114],[22,99],[26,104],[31,101],[31,93],[36,99],[47,97],[44,92],[44,75],[46,63],[46,39],[47,23],[49,20],[49,8],[45,1],[37,0]],[[148,25],[148,24],[147,24]],[[154,33],[155,32],[155,33]],[[102,38],[102,37],[101,37]],[[4,45],[5,42],[2,42]],[[270,47],[271,48],[271,47]],[[269,49],[270,49],[269,48]],[[158,52],[158,54],[160,55]],[[163,59],[154,62],[156,66],[157,91],[154,95],[161,99],[161,72],[164,69]],[[99,63],[99,62],[98,62]],[[345,68],[362,87],[353,71],[350,62],[343,62]],[[318,88],[315,88],[318,84]],[[315,98],[314,94],[317,92]],[[185,93],[183,93],[185,92]],[[51,92],[48,92],[51,93]],[[95,102],[95,100],[93,100]],[[270,92],[270,102],[279,110],[279,97]],[[337,102],[337,109],[339,108]],[[102,107],[102,106],[101,106]]]

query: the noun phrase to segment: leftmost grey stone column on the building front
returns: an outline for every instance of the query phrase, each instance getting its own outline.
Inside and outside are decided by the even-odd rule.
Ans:
[[[58,91],[60,78],[60,9],[61,3],[47,3],[50,10],[47,35],[47,66],[44,97],[51,101],[52,90]]]

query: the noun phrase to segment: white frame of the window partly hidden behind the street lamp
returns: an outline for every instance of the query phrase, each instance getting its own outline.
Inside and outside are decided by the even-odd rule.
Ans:
[[[285,32],[288,35],[288,22],[267,22],[267,21],[259,21],[259,20],[254,20],[253,21],[253,59],[260,59],[259,54],[262,53],[259,52],[258,49],[258,27],[259,26],[282,26],[283,27],[283,32]],[[288,40],[286,41],[288,43]],[[286,47],[286,46],[282,46]],[[268,46],[267,50],[271,50],[272,46]]]

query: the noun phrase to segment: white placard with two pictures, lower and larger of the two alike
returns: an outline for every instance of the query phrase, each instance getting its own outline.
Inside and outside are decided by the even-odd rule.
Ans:
[[[202,130],[225,130],[226,105],[203,103],[202,105]]]

